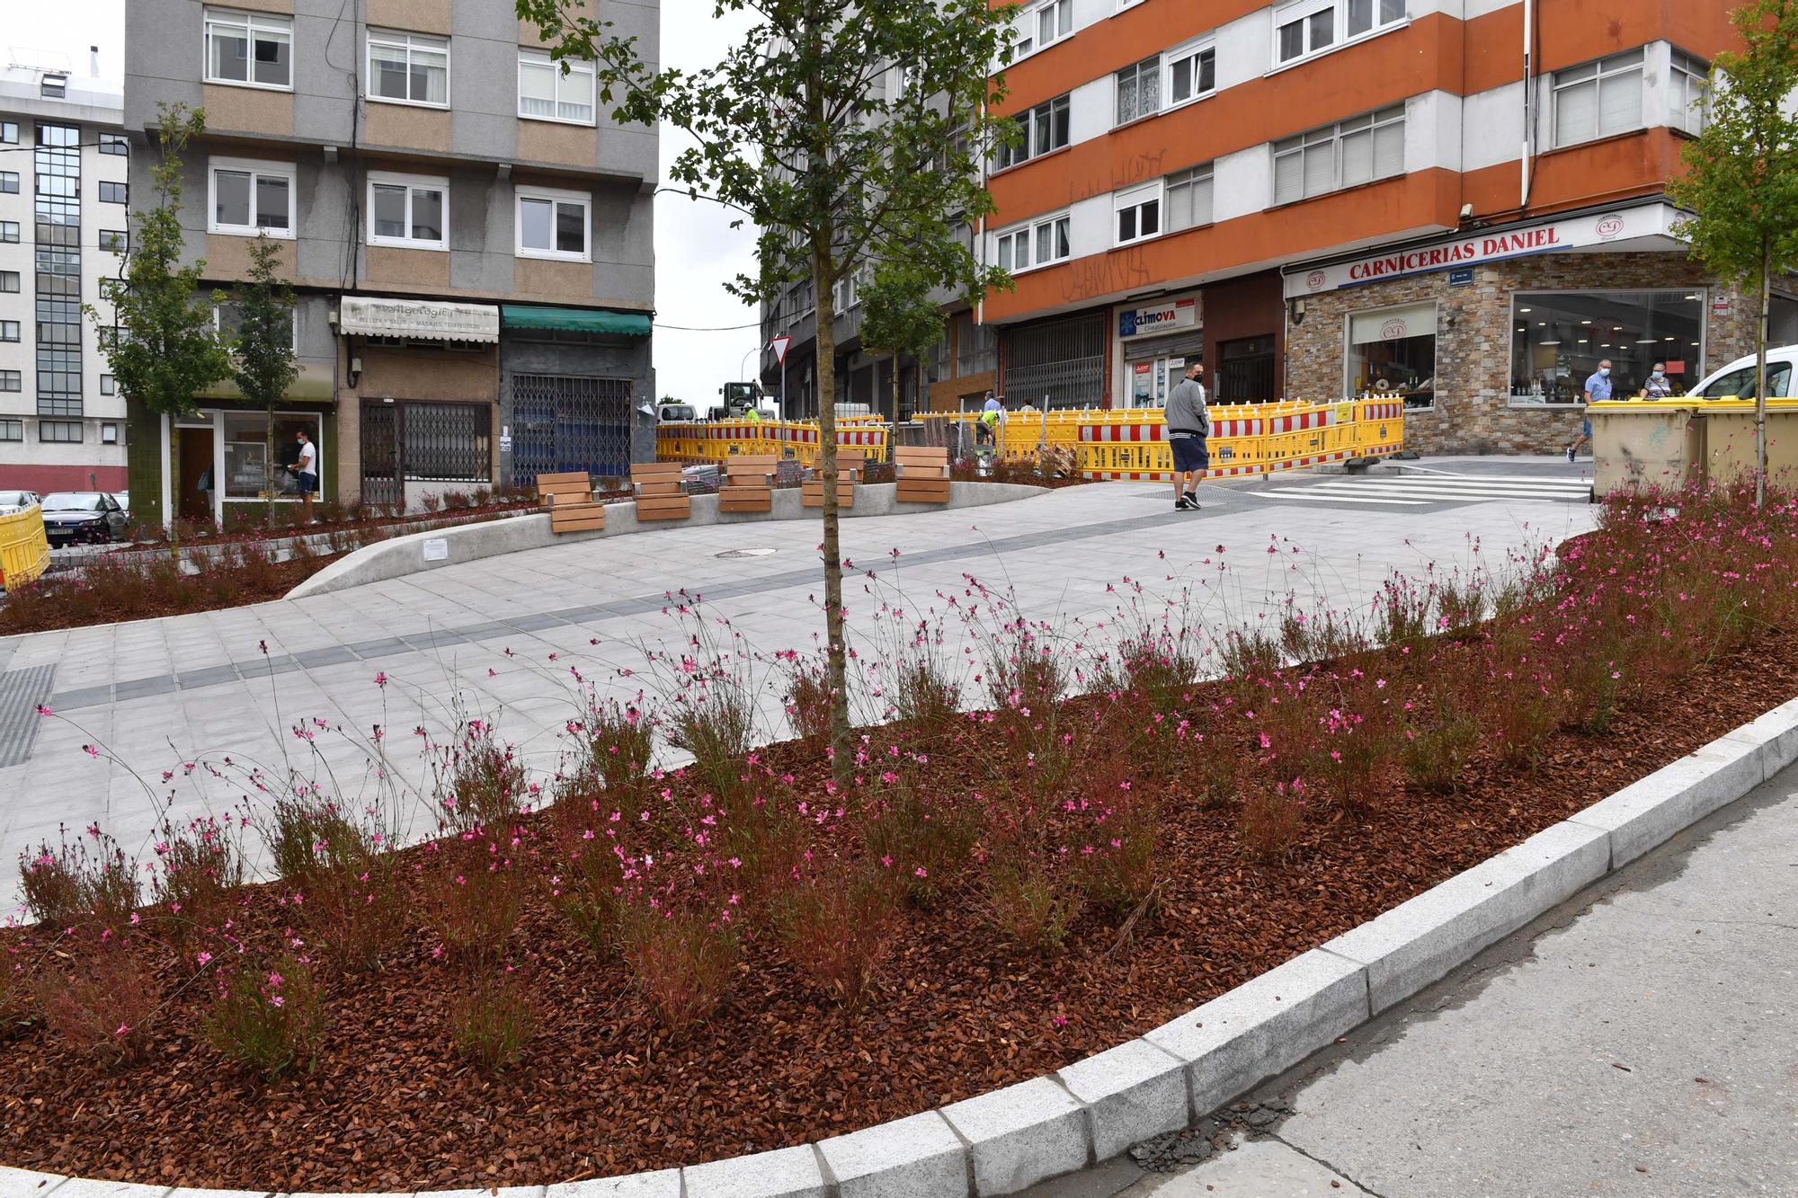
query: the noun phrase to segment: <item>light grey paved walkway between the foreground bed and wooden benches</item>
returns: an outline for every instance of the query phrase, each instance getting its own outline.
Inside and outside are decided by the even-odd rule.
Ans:
[[[1482,462],[1424,466],[1462,475]],[[1483,466],[1559,486],[1446,478],[1392,505],[1379,489],[1390,478],[1295,473],[1206,486],[1199,513],[1174,513],[1163,484],[1120,482],[978,511],[845,522],[858,649],[863,660],[879,657],[868,621],[883,601],[940,612],[940,595],[960,594],[967,576],[1014,594],[1030,619],[1088,626],[1115,622],[1120,594],[1109,588],[1122,592],[1124,577],[1160,595],[1188,588],[1194,619],[1221,633],[1273,619],[1287,594],[1309,610],[1365,612],[1393,570],[1465,568],[1474,545],[1489,568],[1501,568],[1510,550],[1591,527],[1593,509],[1579,495],[1588,462]],[[1320,498],[1318,487],[1338,493]],[[746,547],[773,552],[723,556]],[[669,592],[701,594],[708,615],[728,617],[768,657],[814,644],[820,585],[811,522],[676,525],[298,601],[0,639],[0,901],[14,890],[18,854],[54,844],[63,824],[99,822],[138,851],[164,811],[219,811],[246,790],[203,768],[189,777],[183,763],[228,757],[239,772],[329,773],[336,793],[385,793],[410,813],[412,831],[430,831],[428,772],[410,729],[441,734],[457,707],[496,718],[527,764],[547,773],[577,711],[570,667],[602,694],[644,687],[642,648],[681,637],[663,613]],[[951,639],[951,651],[962,644]],[[762,696],[770,739],[784,734],[777,691]],[[40,703],[54,718],[25,720]],[[311,739],[295,723],[309,725]],[[394,730],[379,777],[370,764],[376,725]],[[165,770],[174,772],[169,782]]]

